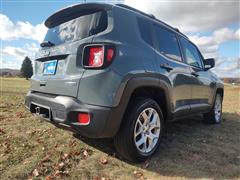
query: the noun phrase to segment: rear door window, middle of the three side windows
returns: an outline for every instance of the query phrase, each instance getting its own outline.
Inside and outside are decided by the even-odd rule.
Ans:
[[[158,51],[168,58],[182,61],[177,37],[175,34],[157,25],[154,26],[154,29],[159,44]]]

